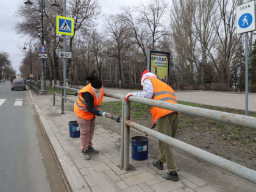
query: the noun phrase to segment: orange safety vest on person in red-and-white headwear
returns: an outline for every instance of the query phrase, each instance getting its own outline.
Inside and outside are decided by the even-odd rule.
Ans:
[[[165,84],[164,82],[162,82],[162,80],[159,80],[157,78],[149,77],[146,79],[150,79],[154,87],[154,95],[152,99],[177,104],[175,92],[169,85]],[[155,121],[157,121],[157,119],[160,119],[162,118],[162,116],[166,116],[172,112],[174,111],[167,110],[165,108],[151,107],[153,124],[155,124]]]

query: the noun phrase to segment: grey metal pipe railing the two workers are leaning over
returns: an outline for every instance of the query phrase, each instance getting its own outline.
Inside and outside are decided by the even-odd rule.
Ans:
[[[54,87],[62,88],[62,95],[55,93],[54,91],[54,105],[55,105],[55,94],[62,98],[62,113],[64,112],[64,99],[70,102],[74,101],[72,99],[64,98],[64,89],[77,91],[79,90],[68,87],[60,87],[54,85]],[[155,101],[153,99],[130,97],[129,101],[124,100],[123,94],[116,93],[104,93],[104,96],[110,98],[121,99],[122,101],[122,122],[121,122],[121,167],[125,170],[130,168],[129,165],[129,142],[130,142],[130,127],[139,130],[140,132],[146,133],[157,140],[163,141],[177,149],[180,149],[194,157],[200,158],[205,162],[212,163],[225,171],[232,172],[236,176],[242,177],[243,179],[249,180],[250,182],[256,183],[256,171],[239,165],[238,163],[231,162],[226,158],[219,157],[218,155],[211,154],[210,152],[204,151],[202,149],[191,146],[190,144],[184,143],[182,141],[176,140],[175,138],[169,137],[162,133],[156,132],[155,130],[149,129],[148,127],[141,126],[135,122],[130,121],[130,101],[138,102],[141,104],[151,105],[159,108],[166,108],[169,110],[174,110],[176,112],[187,113],[193,116],[200,116],[207,119],[213,119],[215,121],[221,121],[224,123],[234,124],[236,126],[248,127],[251,129],[256,129],[256,118],[251,116],[237,115],[233,113],[219,112],[216,110],[209,110],[199,107],[191,107],[181,104],[172,104],[170,102]]]

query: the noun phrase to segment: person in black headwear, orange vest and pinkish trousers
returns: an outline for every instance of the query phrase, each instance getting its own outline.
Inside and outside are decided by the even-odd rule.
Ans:
[[[81,155],[85,160],[90,160],[90,154],[99,154],[99,151],[93,148],[93,133],[96,116],[111,116],[109,113],[99,110],[103,99],[102,80],[93,71],[90,77],[90,84],[79,91],[77,100],[74,103],[74,112],[77,116],[77,123],[80,127]]]

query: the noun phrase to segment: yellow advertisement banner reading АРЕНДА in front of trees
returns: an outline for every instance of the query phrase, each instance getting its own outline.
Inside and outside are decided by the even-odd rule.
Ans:
[[[150,71],[158,79],[168,84],[169,54],[157,54],[151,52]]]

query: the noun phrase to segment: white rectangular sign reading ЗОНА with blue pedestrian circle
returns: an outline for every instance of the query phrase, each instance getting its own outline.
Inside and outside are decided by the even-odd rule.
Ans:
[[[255,1],[236,7],[236,33],[243,34],[255,30]]]

